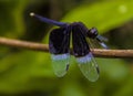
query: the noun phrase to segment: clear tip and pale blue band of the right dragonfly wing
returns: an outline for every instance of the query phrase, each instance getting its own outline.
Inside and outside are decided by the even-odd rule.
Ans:
[[[76,57],[78,65],[83,75],[91,82],[95,82],[99,78],[99,66],[90,52],[88,55]]]

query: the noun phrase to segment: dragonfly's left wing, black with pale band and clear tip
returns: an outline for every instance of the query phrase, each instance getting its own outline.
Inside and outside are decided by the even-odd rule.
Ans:
[[[50,33],[49,49],[52,58],[53,71],[57,76],[66,74],[70,63],[70,32],[71,29],[59,28]]]

